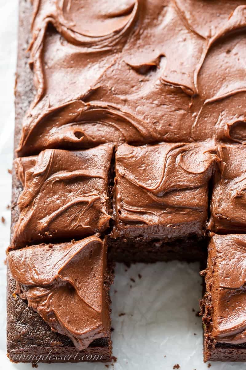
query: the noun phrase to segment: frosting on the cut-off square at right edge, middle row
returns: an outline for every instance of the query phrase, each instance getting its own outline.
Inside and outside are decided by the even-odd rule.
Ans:
[[[219,233],[246,230],[246,148],[219,147],[220,171],[216,173],[209,229]]]

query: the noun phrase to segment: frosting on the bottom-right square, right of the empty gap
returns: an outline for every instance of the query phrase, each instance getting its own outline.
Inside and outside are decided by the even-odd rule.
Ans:
[[[213,307],[211,335],[217,342],[246,342],[246,235],[214,235],[205,277]]]

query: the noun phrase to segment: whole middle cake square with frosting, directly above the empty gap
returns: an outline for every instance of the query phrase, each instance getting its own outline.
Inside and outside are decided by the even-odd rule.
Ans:
[[[208,183],[219,160],[215,153],[212,146],[195,143],[118,147],[109,239],[116,259],[204,256]]]

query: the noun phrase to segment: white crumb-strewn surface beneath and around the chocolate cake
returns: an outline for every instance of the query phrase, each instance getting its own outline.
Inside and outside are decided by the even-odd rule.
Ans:
[[[14,73],[17,52],[18,0],[0,0],[0,369],[31,369],[11,364],[6,357],[5,249],[10,230],[11,168],[14,132]],[[117,265],[111,289],[113,355],[109,369],[207,369],[202,359],[199,309],[199,265],[180,262]],[[142,275],[139,279],[138,274]],[[135,282],[131,281],[135,279]],[[193,310],[195,312],[193,312]],[[125,313],[119,317],[120,313]],[[196,333],[197,335],[194,335]],[[164,357],[165,356],[165,357]],[[104,364],[39,364],[39,369],[107,369]],[[243,363],[211,363],[211,370],[246,369]]]

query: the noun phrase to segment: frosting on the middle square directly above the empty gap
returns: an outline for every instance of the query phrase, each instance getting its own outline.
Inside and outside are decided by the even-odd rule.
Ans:
[[[218,160],[205,144],[120,145],[112,237],[203,235],[208,181]]]

